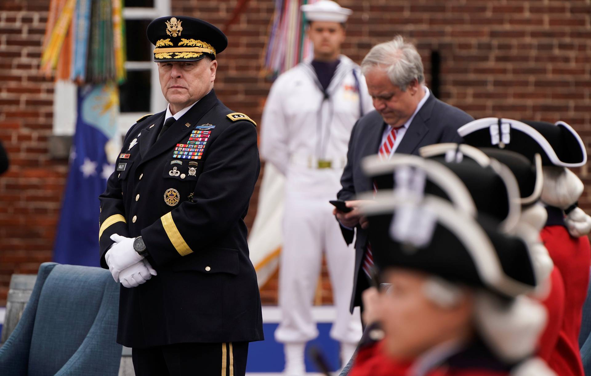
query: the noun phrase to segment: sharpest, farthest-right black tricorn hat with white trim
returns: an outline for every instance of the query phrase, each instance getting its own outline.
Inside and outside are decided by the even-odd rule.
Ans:
[[[540,154],[544,166],[579,167],[587,163],[583,141],[563,121],[517,121],[483,118],[457,129],[466,144],[515,151],[534,161]]]

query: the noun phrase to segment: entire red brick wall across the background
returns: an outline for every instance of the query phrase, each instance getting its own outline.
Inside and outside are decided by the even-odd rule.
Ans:
[[[590,0],[340,0],[353,9],[343,53],[361,61],[373,44],[400,33],[424,57],[441,56],[440,99],[475,118],[504,116],[573,125],[591,141]],[[236,0],[176,0],[173,12],[222,26]],[[230,108],[261,119],[271,85],[259,74],[274,0],[251,0],[220,54],[216,92]],[[0,140],[12,166],[0,177],[0,306],[9,275],[31,273],[51,258],[54,228],[67,172],[50,160],[53,85],[36,72],[48,0],[0,2]],[[580,200],[591,209],[591,183]],[[252,223],[256,201],[247,218]],[[326,275],[319,303],[330,302]],[[275,302],[276,281],[264,289]]]

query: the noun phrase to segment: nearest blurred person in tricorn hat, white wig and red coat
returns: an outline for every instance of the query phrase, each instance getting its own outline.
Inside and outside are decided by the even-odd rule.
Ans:
[[[545,310],[525,296],[538,284],[529,234],[437,197],[362,213],[383,283],[363,293],[368,328],[349,376],[555,375],[532,356]]]

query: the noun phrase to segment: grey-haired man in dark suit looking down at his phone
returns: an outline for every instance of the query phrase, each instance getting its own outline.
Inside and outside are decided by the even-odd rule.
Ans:
[[[394,153],[418,154],[425,145],[460,142],[457,128],[473,120],[459,108],[435,98],[424,85],[421,56],[413,44],[399,35],[378,44],[365,56],[361,70],[368,85],[375,111],[371,111],[353,127],[349,140],[347,164],[337,198],[357,208],[356,193],[377,190],[361,168],[363,157],[378,154],[388,160]],[[350,310],[360,306],[361,293],[369,287],[369,271],[374,264],[371,244],[361,213],[334,210],[347,244],[355,239],[355,274]]]

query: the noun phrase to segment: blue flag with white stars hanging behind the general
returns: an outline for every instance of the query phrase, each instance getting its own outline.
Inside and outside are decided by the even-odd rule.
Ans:
[[[98,197],[121,150],[118,115],[117,86],[78,88],[76,133],[53,252],[60,264],[99,266]]]

